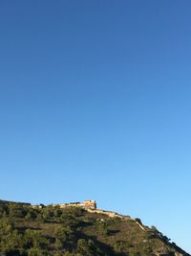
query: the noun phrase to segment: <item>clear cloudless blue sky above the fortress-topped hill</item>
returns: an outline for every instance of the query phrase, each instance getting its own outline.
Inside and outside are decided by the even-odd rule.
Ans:
[[[0,198],[95,198],[191,252],[191,1],[0,1]]]

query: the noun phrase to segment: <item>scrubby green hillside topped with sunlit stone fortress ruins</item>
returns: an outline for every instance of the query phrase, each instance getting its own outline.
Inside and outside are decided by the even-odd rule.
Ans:
[[[0,255],[189,256],[156,227],[82,203],[0,200]]]

